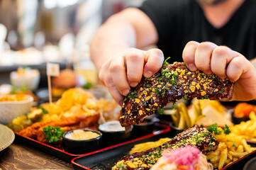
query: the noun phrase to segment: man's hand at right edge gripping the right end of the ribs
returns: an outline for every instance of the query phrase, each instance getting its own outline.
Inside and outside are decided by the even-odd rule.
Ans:
[[[256,98],[256,69],[240,53],[212,42],[190,41],[184,47],[183,60],[191,71],[217,74],[219,78],[235,81],[234,101]]]

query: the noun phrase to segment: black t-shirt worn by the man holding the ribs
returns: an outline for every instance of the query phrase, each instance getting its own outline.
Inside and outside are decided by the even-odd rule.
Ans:
[[[182,51],[190,40],[210,41],[240,52],[248,60],[256,57],[256,1],[245,0],[221,28],[214,28],[196,0],[148,0],[140,6],[157,28],[157,46],[169,62],[182,62]]]

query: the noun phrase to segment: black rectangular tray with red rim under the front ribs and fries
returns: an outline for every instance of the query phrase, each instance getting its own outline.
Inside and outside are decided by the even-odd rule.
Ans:
[[[161,135],[131,141],[126,143],[125,145],[120,145],[118,147],[110,147],[100,152],[92,152],[90,154],[85,154],[82,157],[77,157],[72,159],[71,162],[74,169],[111,170],[111,167],[113,167],[121,157],[128,154],[128,152],[130,152],[130,149],[132,149],[134,145],[143,143],[143,142],[151,142],[151,141],[159,140],[162,137],[174,137],[174,133],[170,131]],[[250,145],[252,145],[252,147],[256,146],[253,144],[250,144]],[[256,157],[256,150],[254,152],[251,152],[250,154],[245,155],[245,157],[238,159],[236,162],[233,162],[232,164],[229,164],[228,166],[223,167],[223,169],[221,170],[243,169],[243,166],[246,164],[246,162],[248,162],[253,157]]]

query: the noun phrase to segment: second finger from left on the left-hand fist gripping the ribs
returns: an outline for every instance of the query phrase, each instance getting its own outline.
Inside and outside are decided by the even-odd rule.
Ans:
[[[126,96],[130,91],[130,86],[126,76],[126,67],[123,57],[115,57],[114,60],[111,60],[109,72],[111,74],[111,81],[115,84],[116,89],[118,89],[123,96]]]

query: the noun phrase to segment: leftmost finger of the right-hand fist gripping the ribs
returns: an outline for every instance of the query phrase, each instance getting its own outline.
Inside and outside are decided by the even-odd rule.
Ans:
[[[196,64],[194,61],[195,53],[196,53],[196,47],[199,45],[199,42],[196,41],[189,41],[187,42],[187,45],[185,45],[182,58],[185,64],[187,64],[187,67],[194,72],[197,70]]]

